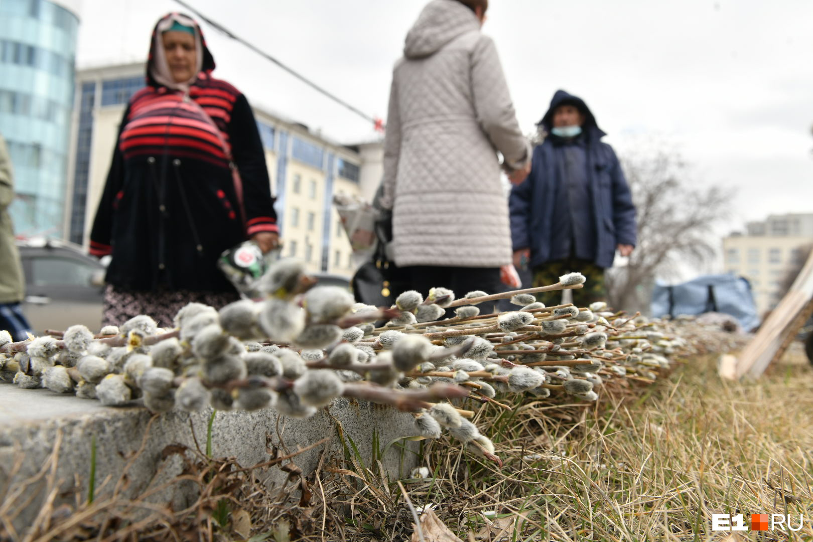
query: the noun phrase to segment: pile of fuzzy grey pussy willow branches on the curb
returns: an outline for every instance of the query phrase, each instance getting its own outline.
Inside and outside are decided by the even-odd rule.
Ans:
[[[546,287],[463,297],[438,287],[425,298],[403,293],[386,308],[318,286],[302,262],[285,259],[263,276],[263,301],[221,310],[190,303],[172,330],[145,314],[97,335],[76,325],[14,343],[0,332],[0,379],[104,405],[140,399],[154,412],[211,405],[307,418],[354,397],[414,413],[416,437],[448,431],[499,462],[464,401],[506,409],[499,399],[508,393],[595,401],[612,379],[653,382],[685,345],[659,331],[667,323],[626,318],[604,303],[546,307],[533,296],[584,282],[571,273]],[[480,314],[479,303],[499,298],[517,310]],[[441,319],[451,309],[454,317]]]

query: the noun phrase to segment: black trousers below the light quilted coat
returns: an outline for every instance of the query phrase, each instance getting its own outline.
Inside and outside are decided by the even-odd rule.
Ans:
[[[431,288],[437,286],[449,288],[458,299],[473,290],[482,290],[488,294],[503,290],[499,267],[410,266],[402,269],[408,273],[409,289],[417,290],[424,297]],[[492,313],[495,302],[486,301],[478,304],[480,314]],[[450,316],[454,316],[453,310],[446,311],[446,317]]]

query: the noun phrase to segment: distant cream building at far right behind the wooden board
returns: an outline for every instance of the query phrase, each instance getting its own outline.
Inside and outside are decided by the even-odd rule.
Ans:
[[[779,302],[781,283],[789,272],[804,263],[806,249],[813,245],[813,214],[770,215],[746,228],[748,235],[724,238],[724,266],[750,281],[762,315]]]

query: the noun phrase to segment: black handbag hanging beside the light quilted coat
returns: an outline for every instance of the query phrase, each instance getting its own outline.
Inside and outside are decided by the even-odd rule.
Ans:
[[[359,303],[375,306],[391,306],[393,299],[393,278],[398,275],[395,262],[387,258],[385,249],[393,239],[393,215],[384,211],[376,220],[376,251],[368,262],[364,262],[350,280],[353,295]]]

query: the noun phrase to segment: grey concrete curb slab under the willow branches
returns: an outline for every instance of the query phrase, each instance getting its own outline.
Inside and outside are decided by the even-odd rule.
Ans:
[[[150,427],[146,448],[129,470],[129,491],[141,491],[156,473],[154,484],[171,479],[180,473],[180,461],[167,459],[164,465],[162,450],[168,444],[195,447],[194,435],[205,449],[207,423],[211,410],[200,413],[172,411],[160,414]],[[59,395],[46,389],[20,389],[13,384],[0,384],[0,497],[7,498],[8,488],[20,487],[25,479],[36,475],[48,461],[54,443],[60,441],[56,478],[61,487],[72,488],[77,483],[86,488],[90,471],[90,450],[93,436],[97,442],[97,483],[107,476],[118,479],[127,457],[139,449],[152,415],[137,405],[111,408],[98,401],[79,399],[72,395]],[[241,466],[253,466],[270,457],[267,446],[284,446],[290,452],[329,437],[316,449],[296,457],[293,462],[307,475],[315,470],[323,452],[328,457],[341,457],[342,446],[338,438],[337,422],[359,446],[364,461],[372,458],[373,434],[377,432],[383,447],[398,437],[415,435],[411,414],[389,407],[360,403],[345,398],[320,410],[312,418],[294,419],[278,415],[275,410],[218,412],[212,431],[212,452],[215,457],[235,457]],[[59,438],[58,438],[59,436]],[[419,443],[406,443],[411,452],[393,447],[384,457],[384,465],[393,479],[409,475],[418,463]],[[21,459],[20,469],[12,473],[15,461]],[[162,468],[163,467],[163,468]],[[268,470],[269,487],[281,486],[285,473]],[[153,486],[154,487],[154,486]],[[14,524],[24,529],[33,522],[46,494],[46,484],[33,483],[24,495],[33,497],[29,505],[14,509]],[[195,498],[189,485],[176,486],[172,492],[156,494],[156,503],[189,505]],[[2,501],[2,499],[0,499]],[[23,500],[20,499],[20,504]],[[59,504],[59,501],[58,503]],[[13,514],[11,514],[13,515]]]

